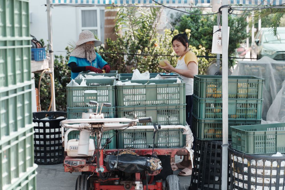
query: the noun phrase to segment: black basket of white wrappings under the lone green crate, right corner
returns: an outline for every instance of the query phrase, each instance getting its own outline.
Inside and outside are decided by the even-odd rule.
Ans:
[[[231,190],[285,189],[285,156],[248,155],[233,150],[231,147],[228,151]]]

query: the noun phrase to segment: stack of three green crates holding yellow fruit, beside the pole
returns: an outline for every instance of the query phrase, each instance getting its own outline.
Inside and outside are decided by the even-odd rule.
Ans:
[[[228,77],[229,127],[260,124],[263,81],[253,76]],[[221,140],[222,113],[222,77],[194,76],[193,134],[200,140]]]

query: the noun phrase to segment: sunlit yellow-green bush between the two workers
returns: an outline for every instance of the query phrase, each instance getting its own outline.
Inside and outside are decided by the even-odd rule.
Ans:
[[[158,67],[160,59],[168,59],[173,66],[176,66],[177,56],[172,49],[171,40],[178,34],[178,30],[166,29],[164,34],[158,34],[159,17],[159,9],[121,8],[116,17],[117,40],[107,39],[105,41],[107,48],[100,47],[97,52],[111,65],[112,70],[119,70],[119,73],[132,73],[135,68],[141,72],[161,72],[162,69]],[[187,33],[190,35],[190,30],[187,30]],[[206,54],[202,46],[189,48],[197,56]],[[131,55],[124,56],[122,53]],[[207,60],[199,59],[199,68],[207,64]]]

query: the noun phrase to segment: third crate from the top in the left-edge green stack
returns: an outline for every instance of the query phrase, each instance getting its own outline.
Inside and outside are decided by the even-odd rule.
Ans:
[[[0,140],[32,124],[32,82],[0,90]]]

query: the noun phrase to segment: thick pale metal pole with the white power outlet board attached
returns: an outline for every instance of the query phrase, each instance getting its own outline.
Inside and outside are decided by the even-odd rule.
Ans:
[[[222,0],[222,5],[227,5]],[[223,91],[223,145],[222,145],[222,190],[228,189],[228,9],[222,9],[222,91]]]

